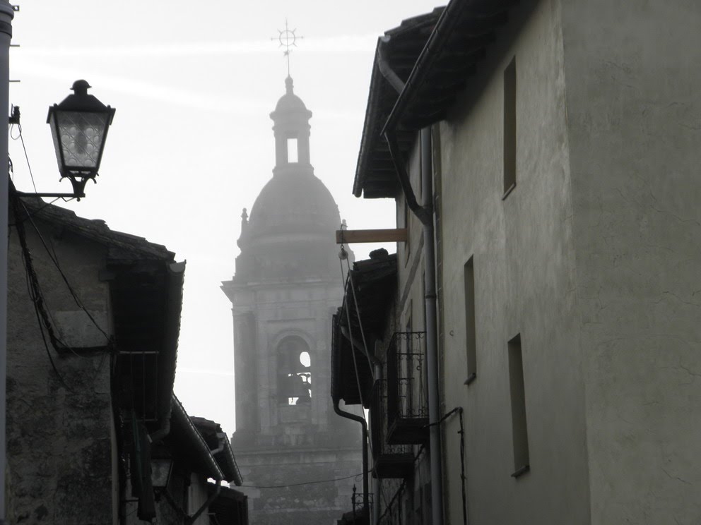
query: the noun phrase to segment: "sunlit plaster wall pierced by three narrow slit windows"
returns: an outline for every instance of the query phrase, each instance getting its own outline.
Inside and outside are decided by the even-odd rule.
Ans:
[[[556,0],[522,2],[440,124],[444,410],[464,407],[469,522],[589,523],[565,79]],[[526,22],[524,23],[524,20]],[[517,186],[503,182],[503,72],[516,56]],[[476,380],[464,385],[473,257]],[[530,471],[514,478],[507,342],[521,335]],[[444,426],[449,523],[462,522],[459,420]]]

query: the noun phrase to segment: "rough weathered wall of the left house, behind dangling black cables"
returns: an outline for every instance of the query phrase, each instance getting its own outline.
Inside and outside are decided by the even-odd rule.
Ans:
[[[37,219],[35,219],[37,221]],[[41,224],[37,221],[37,224]],[[26,223],[35,270],[59,337],[73,344],[93,332],[47,251]],[[104,254],[69,234],[43,229],[83,304],[107,318],[107,286],[98,279]],[[102,325],[103,330],[110,327]],[[94,333],[88,346],[105,344]],[[48,338],[47,338],[48,339]],[[16,231],[8,271],[7,500],[12,524],[110,524],[113,512],[110,358],[106,351],[47,356],[27,291]],[[59,376],[60,374],[60,376]]]

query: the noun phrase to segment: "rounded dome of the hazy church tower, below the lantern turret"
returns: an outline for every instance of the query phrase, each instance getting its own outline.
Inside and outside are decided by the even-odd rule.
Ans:
[[[251,210],[247,239],[281,234],[325,234],[341,224],[336,201],[314,174],[277,175],[261,190]]]

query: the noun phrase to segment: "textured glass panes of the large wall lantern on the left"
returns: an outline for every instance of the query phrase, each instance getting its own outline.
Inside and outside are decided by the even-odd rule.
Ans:
[[[54,147],[61,143],[64,167],[68,169],[98,169],[100,151],[107,130],[107,113],[55,111],[58,126],[52,125]],[[58,130],[57,130],[58,128]],[[58,138],[55,134],[58,132]],[[57,150],[59,164],[61,159]]]

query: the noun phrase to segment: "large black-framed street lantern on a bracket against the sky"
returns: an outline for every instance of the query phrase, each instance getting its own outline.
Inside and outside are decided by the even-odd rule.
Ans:
[[[88,180],[95,181],[105,150],[107,130],[114,117],[114,108],[105,106],[88,95],[86,80],[73,83],[73,95],[61,104],[49,107],[47,124],[51,126],[61,180],[69,179],[73,193],[37,193],[39,197],[85,197]]]

